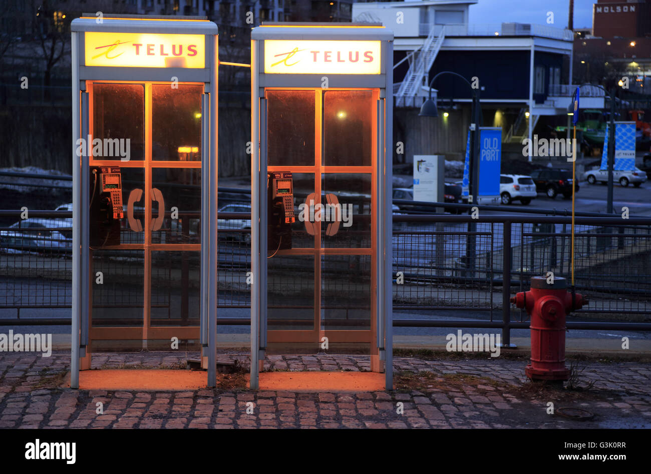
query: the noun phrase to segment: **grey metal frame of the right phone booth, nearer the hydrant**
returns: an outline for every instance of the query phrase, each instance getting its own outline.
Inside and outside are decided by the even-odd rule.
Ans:
[[[271,74],[266,72],[265,44],[268,40],[314,40],[339,41],[342,44],[355,41],[380,42],[380,70],[375,73],[337,72],[320,68],[314,74],[305,72],[295,74]],[[290,46],[291,48],[291,46]],[[296,48],[298,49],[298,48]],[[314,55],[316,61],[316,55]],[[294,60],[292,60],[294,61]],[[296,64],[296,63],[294,63]],[[287,66],[293,64],[286,64]],[[303,66],[303,64],[301,64]],[[327,76],[327,87],[323,87],[322,79]],[[314,249],[292,249],[277,251],[279,255],[314,255],[315,278],[320,281],[320,270],[316,262],[326,255],[366,255],[372,258],[371,265],[371,321],[370,331],[337,331],[342,339],[361,337],[370,342],[371,365],[374,371],[380,371],[381,361],[384,362],[385,383],[387,389],[393,387],[393,343],[392,343],[392,168],[393,163],[393,32],[381,24],[372,23],[263,23],[251,32],[251,142],[254,144],[251,153],[251,380],[252,389],[259,386],[259,371],[264,361],[268,342],[283,339],[283,333],[294,333],[303,342],[315,341],[312,337],[318,335],[320,327],[320,288],[314,288],[314,326],[305,331],[271,331],[267,333],[267,172],[281,171],[282,165],[268,166],[266,150],[267,99],[266,91],[272,90],[301,90],[315,93],[315,129],[320,128],[318,117],[320,112],[320,91],[373,91],[373,99],[377,109],[372,126],[372,161],[369,165],[325,166],[321,163],[320,132],[315,130],[314,165],[292,166],[297,173],[314,173],[314,189],[316,196],[321,195],[321,185],[317,176],[324,173],[368,173],[374,184],[372,186],[372,208],[370,219],[373,229],[372,244],[368,249],[323,249],[320,242],[320,230],[316,226]],[[274,254],[276,255],[276,254]],[[315,280],[316,281],[316,280]],[[362,334],[368,332],[368,334]],[[350,333],[350,334],[349,334]],[[352,333],[358,333],[353,335]],[[270,341],[268,341],[270,339]],[[360,339],[359,341],[361,341]],[[316,339],[318,341],[319,339]]]

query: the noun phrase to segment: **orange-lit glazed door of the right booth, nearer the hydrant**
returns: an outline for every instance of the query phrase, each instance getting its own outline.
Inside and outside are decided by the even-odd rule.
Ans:
[[[266,91],[268,171],[292,171],[297,217],[292,248],[268,249],[271,354],[376,352],[378,100],[377,89]]]

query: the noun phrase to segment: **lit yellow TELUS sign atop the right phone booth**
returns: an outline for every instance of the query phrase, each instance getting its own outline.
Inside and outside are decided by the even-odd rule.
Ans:
[[[380,74],[380,41],[264,40],[265,74]]]

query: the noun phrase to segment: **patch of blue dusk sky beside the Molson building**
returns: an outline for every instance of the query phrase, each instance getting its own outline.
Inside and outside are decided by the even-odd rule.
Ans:
[[[574,0],[574,27],[592,27],[592,5],[596,0]],[[554,26],[567,27],[569,0],[479,0],[470,7],[471,23],[546,23],[554,12]]]

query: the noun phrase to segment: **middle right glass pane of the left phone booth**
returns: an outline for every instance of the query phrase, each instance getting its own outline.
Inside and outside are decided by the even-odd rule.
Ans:
[[[152,222],[165,214],[160,229],[152,228],[152,244],[200,244],[201,169],[152,168],[152,188],[160,191],[154,191]]]

